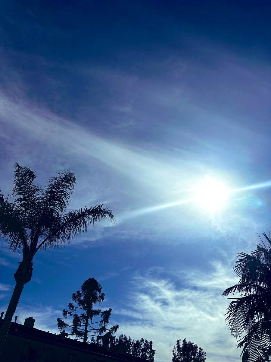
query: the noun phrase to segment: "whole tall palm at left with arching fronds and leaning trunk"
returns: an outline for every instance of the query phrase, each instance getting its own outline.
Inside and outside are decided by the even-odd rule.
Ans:
[[[23,287],[31,280],[36,252],[62,247],[100,220],[115,222],[104,204],[64,213],[76,181],[73,172],[58,173],[41,190],[33,183],[34,171],[18,163],[14,167],[14,202],[0,193],[0,237],[8,240],[10,251],[22,251],[22,261],[14,274],[16,285],[0,328],[0,353]]]

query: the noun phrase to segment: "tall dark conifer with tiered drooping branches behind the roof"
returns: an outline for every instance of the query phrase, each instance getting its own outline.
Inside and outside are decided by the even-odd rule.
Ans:
[[[101,336],[106,333],[117,332],[117,329],[119,328],[119,325],[117,324],[107,329],[112,312],[111,308],[103,312],[100,309],[93,309],[94,304],[100,304],[104,301],[102,287],[96,279],[87,279],[81,286],[81,289],[77,290],[76,293],[73,293],[72,300],[75,304],[77,304],[77,307],[72,303],[69,303],[69,311],[63,309],[63,317],[66,319],[69,316],[72,316],[73,323],[66,324],[61,318],[57,318],[57,328],[59,328],[62,332],[65,333],[66,328],[69,327],[72,329],[70,334],[72,336],[76,336],[79,340],[83,339],[83,342],[88,341],[88,336]],[[80,315],[77,314],[77,308],[83,310],[84,312]],[[99,317],[100,321],[93,322],[94,317]],[[95,328],[96,323],[99,323],[98,328]]]

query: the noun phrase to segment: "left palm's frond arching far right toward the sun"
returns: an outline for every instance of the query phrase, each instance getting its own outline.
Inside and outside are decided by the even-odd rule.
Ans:
[[[96,205],[90,209],[85,206],[85,209],[69,211],[62,218],[59,215],[54,218],[51,227],[44,232],[44,240],[39,244],[36,251],[42,247],[47,249],[63,246],[74,236],[86,232],[88,227],[91,228],[93,224],[106,219],[115,222],[112,211],[104,204]]]

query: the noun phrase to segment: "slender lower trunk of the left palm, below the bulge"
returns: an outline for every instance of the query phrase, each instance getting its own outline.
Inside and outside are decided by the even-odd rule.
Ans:
[[[17,304],[19,303],[19,299],[23,290],[24,284],[22,283],[16,283],[15,288],[12,293],[12,297],[10,299],[7,312],[5,314],[5,318],[2,322],[1,328],[0,328],[0,358],[1,353],[3,351],[5,341],[7,338],[8,330],[10,323],[12,321],[12,317],[16,311]]]

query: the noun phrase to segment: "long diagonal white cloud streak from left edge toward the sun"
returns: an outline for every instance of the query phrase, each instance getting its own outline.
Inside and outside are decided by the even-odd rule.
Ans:
[[[50,145],[56,149],[60,148],[61,152],[68,151],[70,155],[80,157],[85,163],[89,163],[91,158],[98,159],[142,184],[156,188],[168,182],[169,174],[182,174],[170,165],[167,165],[165,172],[163,163],[128,147],[99,138],[48,111],[31,109],[29,106],[14,104],[1,98],[0,113],[3,123],[12,124],[18,132],[26,132],[27,138],[46,142],[47,147]]]

